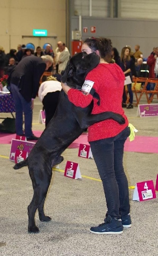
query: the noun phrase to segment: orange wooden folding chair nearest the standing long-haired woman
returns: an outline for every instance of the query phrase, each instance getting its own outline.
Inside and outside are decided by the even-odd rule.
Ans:
[[[140,89],[136,87],[137,83],[141,83],[141,87]],[[148,78],[144,78],[144,77],[138,77],[133,85],[132,91],[135,93],[136,95],[136,107],[137,105],[139,105],[139,101],[142,97],[142,91],[146,90],[148,84]],[[138,94],[140,94],[140,96],[138,97]]]

